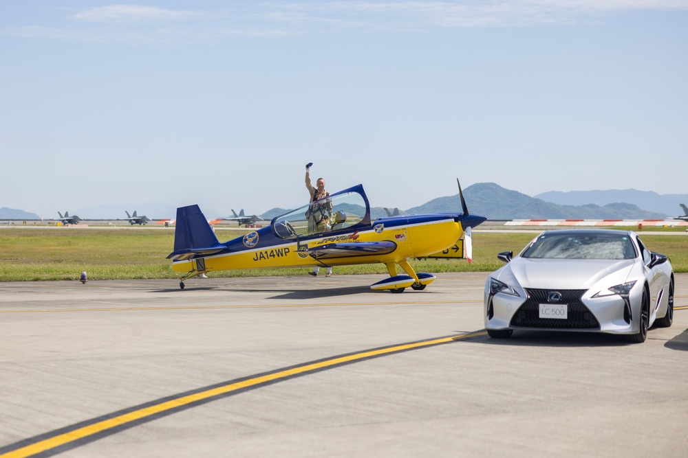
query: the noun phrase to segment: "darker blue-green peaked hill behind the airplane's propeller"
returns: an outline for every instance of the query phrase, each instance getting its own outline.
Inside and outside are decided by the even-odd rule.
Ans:
[[[507,190],[495,183],[475,183],[464,190],[469,212],[490,220],[514,219],[661,219],[663,214],[639,209],[627,203],[608,205],[557,205],[517,191]],[[461,211],[459,194],[440,197],[407,214]]]

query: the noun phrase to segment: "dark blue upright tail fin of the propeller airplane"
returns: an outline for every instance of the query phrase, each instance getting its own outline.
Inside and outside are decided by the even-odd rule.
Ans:
[[[186,260],[195,255],[211,255],[226,249],[198,205],[179,207],[174,233],[174,251],[167,259]]]

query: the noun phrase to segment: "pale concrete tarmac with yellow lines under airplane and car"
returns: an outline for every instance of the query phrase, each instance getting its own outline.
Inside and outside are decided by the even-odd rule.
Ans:
[[[636,345],[490,339],[487,275],[2,283],[0,458],[685,456],[688,274]]]

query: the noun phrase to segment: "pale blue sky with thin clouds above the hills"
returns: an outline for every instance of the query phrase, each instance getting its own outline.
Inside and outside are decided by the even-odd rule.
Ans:
[[[0,207],[261,214],[308,162],[374,207],[688,193],[688,0],[0,2]]]

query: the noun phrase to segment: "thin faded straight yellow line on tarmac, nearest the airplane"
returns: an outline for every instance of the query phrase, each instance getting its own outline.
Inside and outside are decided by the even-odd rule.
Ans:
[[[0,310],[3,313],[59,313],[59,312],[123,312],[131,310],[213,310],[226,308],[284,308],[284,307],[348,307],[348,306],[423,306],[437,304],[482,304],[480,301],[400,301],[400,302],[341,302],[332,304],[263,304],[244,306],[179,306],[179,307],[108,307],[108,308],[35,308],[30,310]]]

